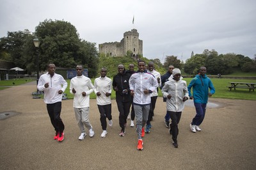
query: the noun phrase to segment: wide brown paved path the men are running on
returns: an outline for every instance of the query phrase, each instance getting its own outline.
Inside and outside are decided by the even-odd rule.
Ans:
[[[195,108],[186,106],[179,123],[179,148],[171,146],[164,127],[165,103],[158,98],[150,134],[144,149],[136,150],[135,128],[120,137],[118,111],[112,101],[113,127],[102,132],[96,101],[90,100],[90,121],[95,136],[77,138],[72,100],[63,100],[61,118],[65,140],[52,139],[54,129],[42,99],[33,99],[35,82],[0,91],[1,112],[19,112],[0,120],[0,169],[255,169],[255,101],[211,98],[218,107],[207,109],[202,132],[193,134],[189,123]],[[130,121],[128,121],[129,123]],[[88,133],[88,130],[86,131]]]

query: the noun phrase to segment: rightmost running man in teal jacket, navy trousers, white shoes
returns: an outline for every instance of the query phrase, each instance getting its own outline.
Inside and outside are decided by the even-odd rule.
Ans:
[[[206,105],[208,102],[208,97],[211,97],[215,93],[215,88],[212,85],[211,79],[207,77],[206,68],[202,66],[200,72],[188,85],[189,98],[194,99],[194,105],[196,109],[196,116],[193,118],[190,129],[191,132],[195,133],[201,131],[199,125],[204,120]],[[191,95],[191,88],[193,87],[193,96]],[[209,91],[209,89],[211,91]]]

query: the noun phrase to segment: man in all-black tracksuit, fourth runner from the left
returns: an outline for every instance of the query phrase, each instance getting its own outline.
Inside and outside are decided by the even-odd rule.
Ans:
[[[119,111],[120,136],[124,136],[127,116],[131,107],[131,94],[129,88],[130,73],[126,72],[124,65],[118,65],[118,73],[113,77],[113,89],[116,91],[116,104]]]

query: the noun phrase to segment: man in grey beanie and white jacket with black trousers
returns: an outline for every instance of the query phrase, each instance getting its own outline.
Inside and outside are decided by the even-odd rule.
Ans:
[[[181,113],[184,110],[184,102],[188,100],[188,88],[186,81],[182,81],[179,68],[172,71],[172,75],[164,83],[162,88],[163,96],[167,98],[166,109],[172,123],[170,123],[170,134],[172,134],[172,146],[178,148],[177,136],[179,134],[178,124]]]

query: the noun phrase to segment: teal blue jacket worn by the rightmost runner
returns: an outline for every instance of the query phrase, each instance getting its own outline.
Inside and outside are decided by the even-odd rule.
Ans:
[[[205,74],[196,75],[194,79],[188,85],[188,94],[189,97],[192,96],[191,88],[193,87],[193,99],[196,104],[207,104],[208,102],[208,93],[209,89],[211,89],[210,93],[213,95],[215,93],[215,88],[212,84],[211,79],[207,77]]]

